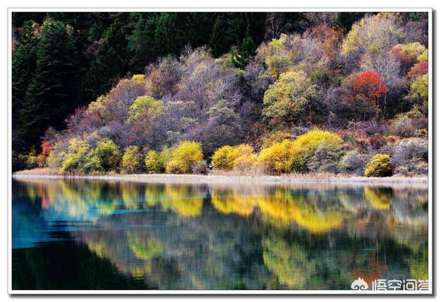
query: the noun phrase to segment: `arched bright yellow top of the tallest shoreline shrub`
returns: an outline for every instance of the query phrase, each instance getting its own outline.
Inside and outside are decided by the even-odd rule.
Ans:
[[[337,149],[342,145],[342,138],[329,131],[314,129],[298,136],[294,141],[294,147],[300,149],[306,155],[313,154],[320,144],[327,144],[329,149]]]

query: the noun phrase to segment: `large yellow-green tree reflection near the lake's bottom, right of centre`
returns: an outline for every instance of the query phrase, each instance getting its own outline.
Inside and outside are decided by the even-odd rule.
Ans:
[[[294,289],[301,289],[315,270],[315,261],[303,248],[276,238],[263,240],[263,260],[279,283]]]

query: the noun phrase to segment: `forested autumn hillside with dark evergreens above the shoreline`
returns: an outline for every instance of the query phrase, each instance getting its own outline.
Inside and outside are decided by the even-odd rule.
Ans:
[[[428,171],[428,15],[14,13],[13,168]]]

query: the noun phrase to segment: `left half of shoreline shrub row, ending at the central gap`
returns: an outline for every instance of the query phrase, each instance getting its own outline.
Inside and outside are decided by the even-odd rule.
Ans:
[[[142,151],[138,146],[126,147],[121,152],[109,139],[100,140],[92,147],[87,139],[72,138],[64,151],[52,150],[45,159],[28,157],[30,164],[42,166],[43,161],[63,173],[193,173],[193,170],[201,173],[201,165],[206,167],[201,144],[188,141],[160,152]]]

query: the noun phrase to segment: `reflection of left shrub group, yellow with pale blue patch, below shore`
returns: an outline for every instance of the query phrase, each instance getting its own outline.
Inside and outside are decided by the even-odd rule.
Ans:
[[[43,200],[43,207],[52,207],[57,213],[77,219],[95,219],[90,215],[110,215],[122,206],[128,209],[159,205],[175,211],[182,217],[200,215],[203,192],[188,185],[148,184],[130,182],[108,183],[111,194],[103,191],[102,182],[69,182],[45,180],[28,184],[26,194]],[[144,193],[143,193],[144,191]],[[92,213],[93,212],[93,213]]]

